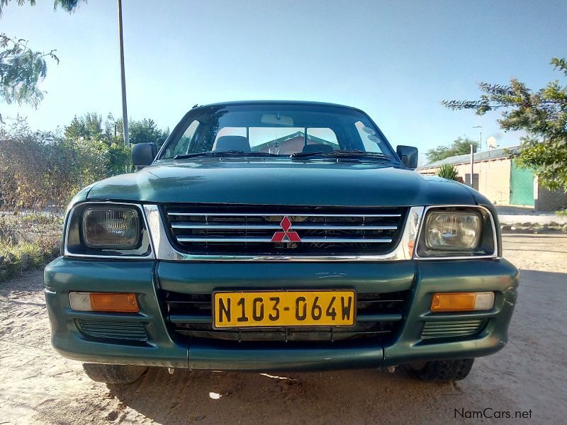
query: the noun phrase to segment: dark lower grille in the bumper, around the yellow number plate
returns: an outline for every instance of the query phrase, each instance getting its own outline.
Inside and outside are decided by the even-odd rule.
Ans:
[[[409,291],[396,293],[358,293],[357,319],[352,328],[281,327],[271,329],[213,329],[210,294],[185,294],[162,291],[167,322],[174,334],[185,339],[224,341],[270,341],[274,343],[357,341],[373,339],[385,342],[397,335],[403,317],[403,305]]]

